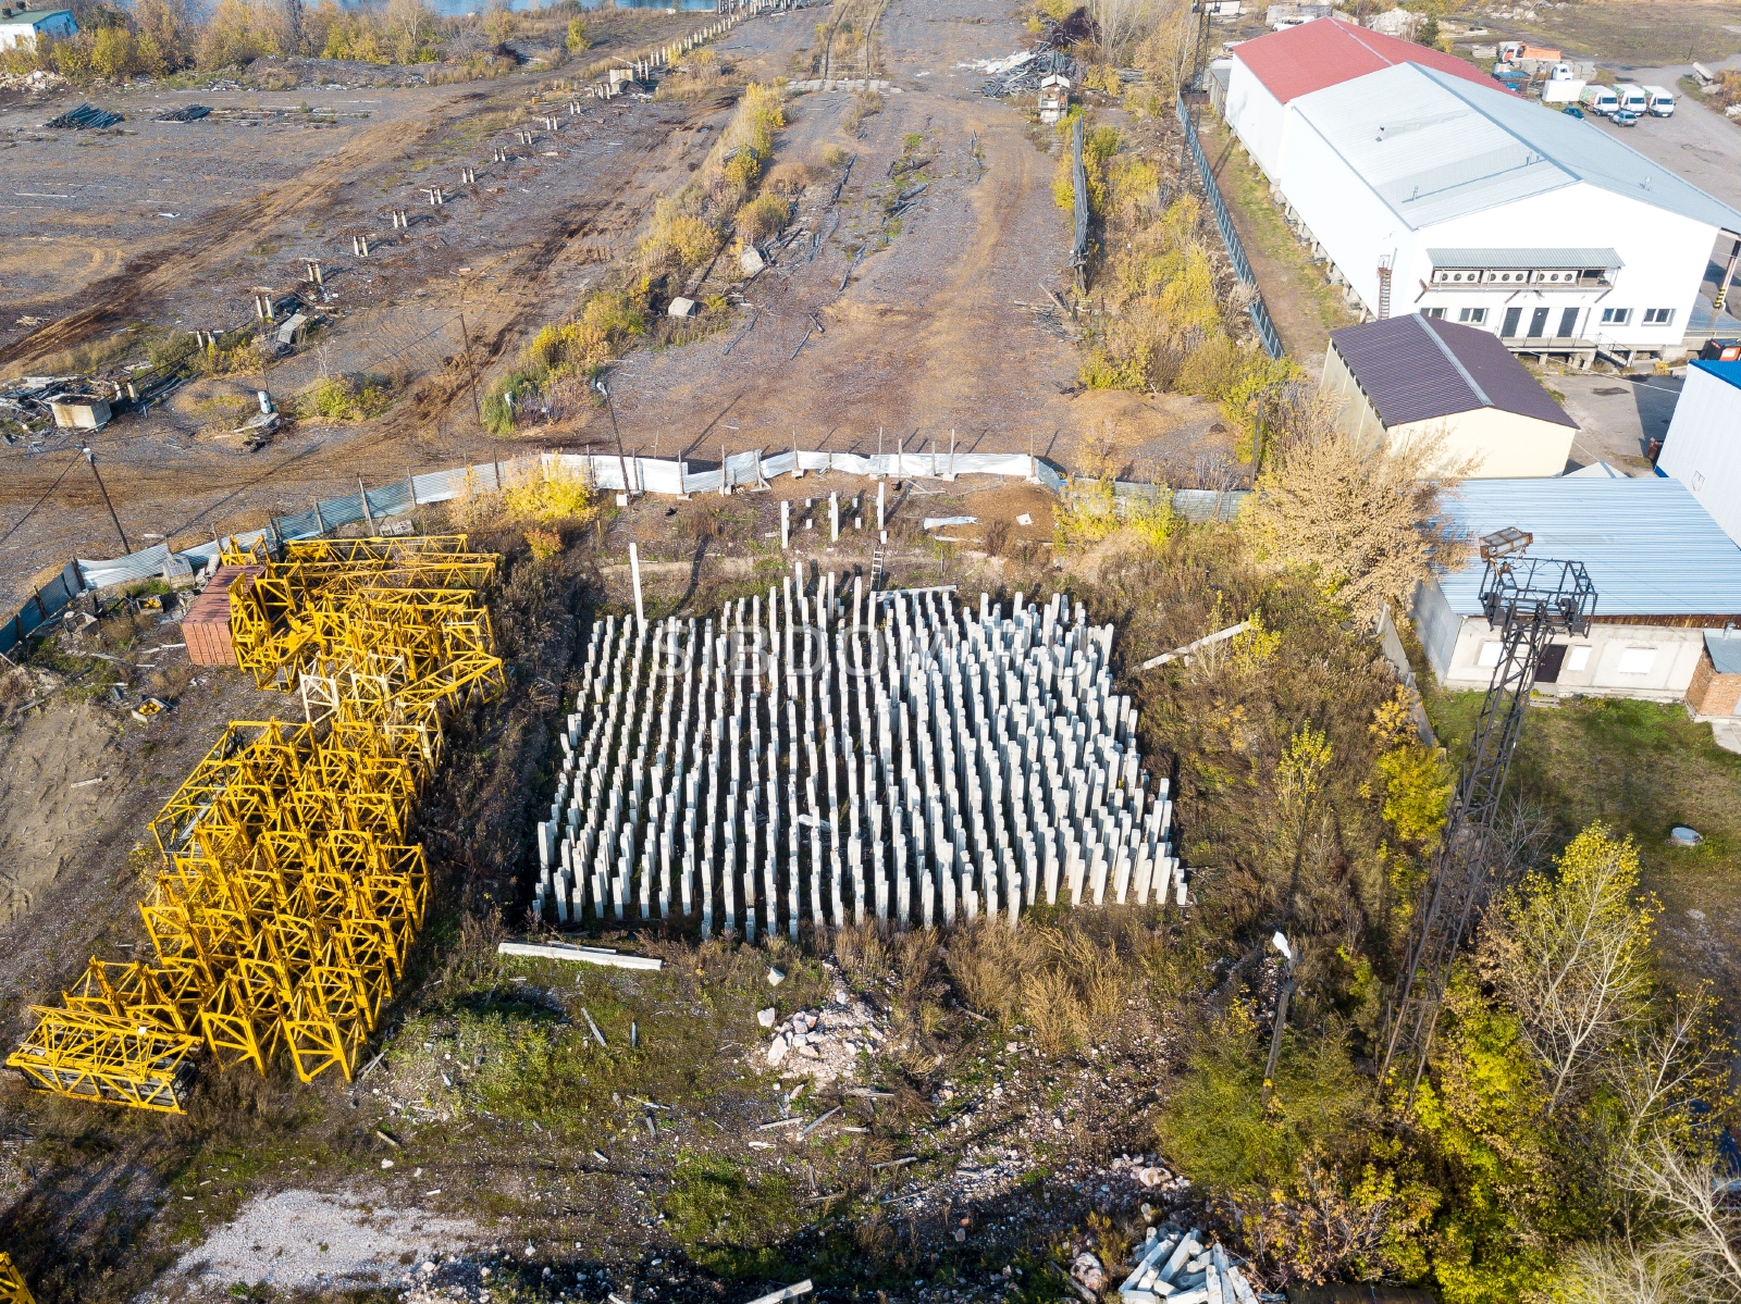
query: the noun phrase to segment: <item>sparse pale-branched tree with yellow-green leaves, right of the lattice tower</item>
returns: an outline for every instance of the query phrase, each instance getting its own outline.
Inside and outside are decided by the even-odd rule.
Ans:
[[[1541,1062],[1549,1109],[1644,1010],[1649,947],[1638,850],[1602,825],[1572,839],[1556,877],[1527,874],[1487,916],[1482,973]]]

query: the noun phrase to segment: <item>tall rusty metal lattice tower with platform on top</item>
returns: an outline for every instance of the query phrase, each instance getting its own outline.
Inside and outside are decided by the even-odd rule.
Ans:
[[[1489,839],[1543,649],[1556,635],[1584,634],[1596,609],[1596,590],[1583,562],[1523,557],[1529,543],[1530,534],[1515,528],[1482,538],[1487,562],[1482,608],[1499,632],[1499,663],[1386,1006],[1379,1078],[1388,1081],[1393,1065],[1408,1065],[1410,1104],[1433,1050],[1452,961],[1494,888]]]

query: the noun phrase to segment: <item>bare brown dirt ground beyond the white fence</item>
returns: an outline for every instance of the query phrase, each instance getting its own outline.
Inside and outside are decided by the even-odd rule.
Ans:
[[[1107,421],[1119,442],[1146,447],[1201,435],[1207,418],[1180,416],[1177,404],[1064,393],[1079,352],[1046,296],[1062,284],[1067,256],[1064,214],[1050,193],[1057,145],[1024,113],[982,97],[982,77],[959,66],[1024,44],[1022,24],[989,9],[984,0],[891,3],[879,52],[895,89],[857,134],[846,129],[850,94],[794,96],[778,157],[817,162],[827,143],[858,155],[827,214],[827,239],[813,258],[782,259],[756,280],[750,306],[728,331],[684,348],[641,350],[615,369],[629,444],[688,447],[705,461],[721,439],[731,451],[776,449],[794,437],[867,449],[881,430],[888,447],[905,439],[912,449],[933,439],[947,447],[954,432],[961,449],[1032,451],[1069,465],[1078,439]],[[761,17],[716,49],[742,77],[770,80],[790,71],[811,26],[804,14]],[[31,272],[16,254],[0,265],[0,277],[26,289],[23,315],[47,320],[28,334],[9,322],[0,364],[17,369],[131,322],[240,326],[252,286],[287,287],[303,279],[305,258],[320,258],[327,303],[343,313],[336,327],[319,348],[228,388],[245,397],[265,386],[287,402],[324,374],[395,369],[409,385],[385,418],[303,421],[249,456],[200,437],[211,383],[143,418],[117,420],[92,444],[134,547],[259,528],[270,514],[306,510],[315,496],[355,491],[359,477],[383,484],[528,446],[609,439],[597,413],[521,439],[484,435],[472,376],[456,359],[468,338],[487,385],[531,331],[571,312],[601,263],[632,247],[653,198],[700,164],[729,96],[696,106],[583,101],[578,118],[548,132],[531,117],[536,87],[522,77],[319,103],[200,92],[200,103],[245,111],[226,113],[205,138],[186,134],[200,124],[150,122],[151,104],[129,113],[138,136],[99,146],[19,136],[9,165],[26,181],[16,190],[73,198],[0,211],[0,235],[10,226],[37,240],[61,268]],[[310,129],[308,117],[333,125]],[[529,122],[533,146],[510,150],[519,157],[508,164],[484,162],[493,145],[515,145]],[[930,183],[888,219],[888,167],[902,153],[928,160]],[[106,178],[160,174],[165,188],[141,185],[146,202],[117,216],[118,183],[77,188],[94,157],[106,160]],[[477,165],[475,186],[454,185],[465,162]],[[449,186],[447,202],[432,209],[420,186],[437,181]],[[411,214],[407,232],[388,223],[395,205]],[[63,211],[73,218],[61,221]],[[369,258],[352,252],[359,233],[373,233]],[[70,555],[120,550],[96,481],[75,458],[77,444],[64,439],[0,449],[0,599],[28,595],[31,575]]]

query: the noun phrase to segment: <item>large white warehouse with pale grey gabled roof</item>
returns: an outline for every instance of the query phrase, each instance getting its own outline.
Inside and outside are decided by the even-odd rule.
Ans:
[[[1466,75],[1396,63],[1278,99],[1278,129],[1238,73],[1229,124],[1365,317],[1419,312],[1584,366],[1678,359],[1718,240],[1727,258],[1741,235],[1741,212],[1600,127]]]

